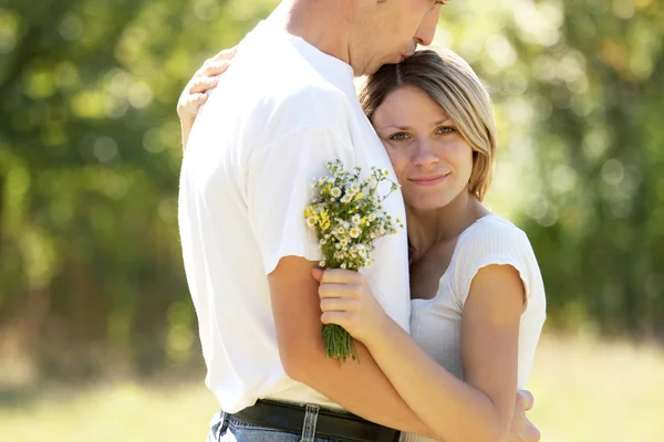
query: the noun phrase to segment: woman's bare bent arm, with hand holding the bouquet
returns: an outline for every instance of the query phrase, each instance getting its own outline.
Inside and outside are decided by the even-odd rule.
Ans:
[[[490,265],[473,280],[461,319],[465,381],[388,318],[362,275],[347,281],[349,273],[326,271],[328,278],[322,276],[323,323],[339,324],[362,340],[405,402],[439,439],[520,440],[510,427],[525,292],[513,267]]]

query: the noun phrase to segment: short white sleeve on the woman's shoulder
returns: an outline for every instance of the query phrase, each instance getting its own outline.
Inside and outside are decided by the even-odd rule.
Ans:
[[[519,272],[523,283],[526,308],[535,288],[535,272],[539,272],[528,236],[511,224],[496,221],[473,228],[476,229],[461,236],[457,245],[452,283],[455,301],[459,307],[466,304],[473,280],[480,269],[494,264],[510,265]]]

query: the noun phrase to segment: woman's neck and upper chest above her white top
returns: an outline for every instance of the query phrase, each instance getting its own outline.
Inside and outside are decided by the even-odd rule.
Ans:
[[[449,204],[423,210],[406,204],[411,259],[419,261],[432,248],[460,235],[475,221],[490,212],[469,192],[461,192]]]

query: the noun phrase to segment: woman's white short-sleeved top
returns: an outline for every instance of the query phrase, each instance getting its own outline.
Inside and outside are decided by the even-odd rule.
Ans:
[[[528,236],[500,217],[484,217],[460,234],[449,266],[440,277],[436,296],[411,301],[411,336],[438,364],[463,379],[460,337],[464,304],[477,272],[491,264],[513,266],[526,288],[527,306],[521,316],[518,349],[518,388],[523,389],[546,319],[544,286]],[[406,433],[401,440],[429,441]]]

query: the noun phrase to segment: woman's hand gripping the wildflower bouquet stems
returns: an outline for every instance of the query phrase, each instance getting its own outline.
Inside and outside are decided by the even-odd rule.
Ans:
[[[342,326],[352,337],[367,347],[384,336],[391,322],[371,293],[364,276],[349,270],[313,269],[313,277],[320,282],[321,322]]]

